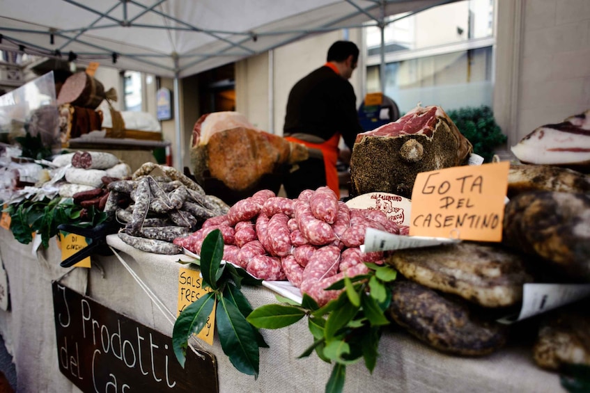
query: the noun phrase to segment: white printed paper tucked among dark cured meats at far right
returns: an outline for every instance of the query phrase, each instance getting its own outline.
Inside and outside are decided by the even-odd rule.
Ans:
[[[522,321],[586,296],[590,296],[590,284],[525,284],[522,288],[522,307],[518,317],[506,316],[498,321]]]

